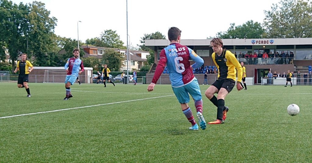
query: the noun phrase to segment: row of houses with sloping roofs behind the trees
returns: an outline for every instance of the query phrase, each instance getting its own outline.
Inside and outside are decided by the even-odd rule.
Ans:
[[[83,51],[85,52],[83,58],[95,57],[99,60],[102,59],[102,55],[105,55],[106,49],[113,49],[117,53],[124,55],[124,65],[121,67],[121,70],[127,70],[127,49],[104,48],[95,46],[81,46],[81,48],[83,48]],[[128,64],[130,65],[130,71],[132,71],[132,69],[140,70],[142,66],[147,64],[147,56],[149,55],[149,52],[129,50],[129,53],[130,59]]]

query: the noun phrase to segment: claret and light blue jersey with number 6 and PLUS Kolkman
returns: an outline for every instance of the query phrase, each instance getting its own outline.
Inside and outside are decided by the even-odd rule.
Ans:
[[[192,49],[179,43],[171,43],[160,52],[159,62],[151,83],[156,84],[163,69],[167,64],[169,78],[172,87],[182,87],[193,81],[195,78],[191,69],[190,61],[195,63],[193,69],[199,68],[204,64],[204,60],[200,58]]]

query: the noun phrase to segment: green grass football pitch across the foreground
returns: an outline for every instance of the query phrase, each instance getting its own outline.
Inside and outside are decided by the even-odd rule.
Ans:
[[[312,86],[234,88],[224,124],[190,131],[170,85],[74,84],[68,101],[64,84],[16,85],[0,83],[0,162],[312,162]]]

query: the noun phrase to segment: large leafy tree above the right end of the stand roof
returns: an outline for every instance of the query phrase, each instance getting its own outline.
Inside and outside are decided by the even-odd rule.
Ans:
[[[312,37],[312,3],[303,0],[281,0],[266,11],[264,25],[269,38]]]

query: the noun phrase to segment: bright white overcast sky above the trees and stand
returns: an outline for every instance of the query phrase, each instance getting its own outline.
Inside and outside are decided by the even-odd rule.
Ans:
[[[13,0],[31,3],[32,0]],[[99,37],[112,29],[127,44],[126,0],[41,0],[50,17],[57,18],[55,34],[79,40]],[[206,39],[227,31],[230,23],[241,25],[249,20],[262,23],[264,10],[280,0],[128,0],[128,34],[133,46],[140,44],[144,33],[159,31],[166,38],[170,27],[182,30],[181,39]]]

